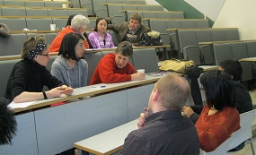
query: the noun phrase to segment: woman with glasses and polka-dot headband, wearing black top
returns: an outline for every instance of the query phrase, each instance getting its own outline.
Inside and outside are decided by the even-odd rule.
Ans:
[[[73,88],[67,87],[46,69],[49,62],[49,47],[40,35],[26,39],[23,43],[22,60],[16,63],[10,74],[5,98],[15,103],[71,95]],[[42,91],[43,86],[49,88]]]

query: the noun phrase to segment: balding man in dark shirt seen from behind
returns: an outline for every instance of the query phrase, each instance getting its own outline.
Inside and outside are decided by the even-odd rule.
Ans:
[[[140,114],[139,129],[128,134],[120,154],[199,155],[196,127],[190,118],[181,116],[189,95],[184,78],[176,73],[164,75],[154,84],[146,115]]]

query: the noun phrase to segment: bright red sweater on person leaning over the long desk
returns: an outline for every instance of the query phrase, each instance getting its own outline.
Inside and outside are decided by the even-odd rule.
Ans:
[[[136,73],[135,68],[128,62],[120,69],[116,65],[115,56],[116,54],[107,54],[102,57],[93,73],[90,85],[131,81],[131,74]]]

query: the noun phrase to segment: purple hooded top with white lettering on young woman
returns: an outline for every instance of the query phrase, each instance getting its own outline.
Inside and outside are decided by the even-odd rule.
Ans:
[[[93,31],[89,34],[88,39],[91,41],[93,48],[111,48],[114,47],[112,37],[109,33],[104,32],[105,44],[103,39],[99,36],[97,31]]]

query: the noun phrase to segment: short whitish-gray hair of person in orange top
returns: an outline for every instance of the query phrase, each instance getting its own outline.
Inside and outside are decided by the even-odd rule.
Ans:
[[[89,19],[86,18],[84,15],[77,14],[71,21],[71,28],[74,30],[79,30],[79,28],[87,28],[88,24],[90,23]]]

